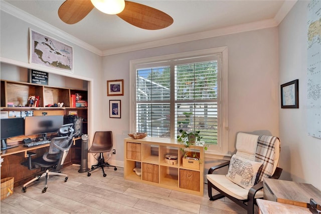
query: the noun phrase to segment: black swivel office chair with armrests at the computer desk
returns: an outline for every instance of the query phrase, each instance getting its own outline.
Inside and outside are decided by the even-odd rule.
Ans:
[[[48,188],[47,181],[49,179],[49,175],[65,176],[65,182],[67,182],[68,175],[61,173],[60,169],[72,144],[74,134],[74,129],[72,126],[73,124],[66,124],[60,127],[58,135],[64,136],[51,139],[49,151],[43,154],[43,156],[32,159],[32,156],[35,156],[36,153],[27,152],[28,161],[22,163],[22,165],[28,166],[28,169],[30,170],[42,168],[45,170],[45,172],[25,183],[22,188],[23,192],[26,192],[28,184],[34,182],[35,180],[38,181],[41,177],[46,176],[45,188],[42,190],[42,193],[45,193]]]

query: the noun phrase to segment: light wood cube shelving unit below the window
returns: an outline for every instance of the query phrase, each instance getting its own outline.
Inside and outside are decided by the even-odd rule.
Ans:
[[[198,169],[183,166],[184,145],[170,139],[146,137],[124,139],[124,178],[159,187],[174,189],[196,195],[203,195],[204,189],[204,148],[192,146],[199,154]],[[186,149],[185,149],[186,150]],[[178,156],[177,164],[165,162],[165,156]],[[195,166],[195,163],[193,166]],[[141,168],[141,176],[133,169]]]

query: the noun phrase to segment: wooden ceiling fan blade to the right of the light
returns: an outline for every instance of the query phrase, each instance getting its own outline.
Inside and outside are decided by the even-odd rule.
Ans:
[[[174,22],[171,16],[162,11],[129,1],[125,1],[125,9],[117,16],[131,25],[146,30],[163,29]]]

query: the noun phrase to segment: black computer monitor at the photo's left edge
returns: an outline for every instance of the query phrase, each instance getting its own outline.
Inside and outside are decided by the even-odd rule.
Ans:
[[[1,150],[17,147],[18,145],[7,145],[7,139],[25,135],[25,123],[23,118],[6,118],[1,119]]]

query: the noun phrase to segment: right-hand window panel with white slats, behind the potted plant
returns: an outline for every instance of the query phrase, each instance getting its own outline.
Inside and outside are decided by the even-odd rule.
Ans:
[[[217,143],[217,61],[176,65],[175,132],[200,131]]]

